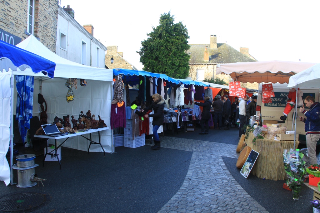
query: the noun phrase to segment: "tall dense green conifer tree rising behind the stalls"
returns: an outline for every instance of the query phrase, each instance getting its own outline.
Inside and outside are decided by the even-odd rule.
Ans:
[[[148,39],[141,42],[142,47],[137,53],[144,71],[185,79],[189,74],[190,56],[185,52],[190,48],[188,30],[181,21],[173,23],[173,17],[170,11],[161,14],[160,25],[147,34]]]

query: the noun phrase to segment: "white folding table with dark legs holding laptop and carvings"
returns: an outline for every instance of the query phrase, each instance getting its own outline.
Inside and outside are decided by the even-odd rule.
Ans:
[[[44,166],[44,160],[45,160],[45,157],[47,155],[52,155],[52,156],[56,156],[57,159],[58,159],[58,162],[60,164],[60,170],[61,170],[61,162],[59,160],[59,157],[57,156],[57,150],[58,148],[61,147],[61,145],[66,142],[68,140],[68,138],[70,137],[75,137],[75,136],[82,136],[84,137],[83,135],[84,134],[90,134],[90,139],[87,138],[87,137],[84,137],[85,139],[87,139],[88,141],[90,141],[90,144],[89,144],[89,148],[88,148],[88,154],[89,154],[89,149],[90,149],[90,146],[91,144],[100,144],[102,150],[103,150],[103,155],[105,155],[105,151],[104,151],[104,148],[102,147],[101,145],[101,142],[100,142],[100,131],[103,131],[103,130],[107,130],[109,129],[109,127],[103,127],[103,128],[98,128],[98,129],[89,129],[89,130],[86,130],[84,132],[77,132],[77,133],[73,133],[73,134],[68,134],[68,135],[62,135],[62,136],[58,136],[58,137],[52,137],[52,136],[48,136],[48,135],[34,135],[35,138],[47,138],[47,139],[54,139],[54,150],[52,150],[51,152],[48,153],[48,147],[46,148],[46,153],[44,155],[44,159],[43,159],[43,166]],[[99,137],[99,143],[98,142],[95,142],[95,141],[92,141],[92,137],[91,137],[91,133],[95,133],[95,132],[98,132],[98,137]],[[62,138],[65,138],[66,140],[64,140],[58,147],[57,147],[57,139],[62,139]]]

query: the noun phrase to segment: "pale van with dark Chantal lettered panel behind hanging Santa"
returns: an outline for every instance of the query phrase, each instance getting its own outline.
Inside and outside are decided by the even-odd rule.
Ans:
[[[293,117],[293,110],[288,114],[288,117],[285,121],[282,121],[280,119],[281,116],[283,116],[284,108],[287,104],[287,96],[289,94],[290,87],[287,87],[288,84],[272,84],[275,97],[272,97],[272,103],[262,103],[262,84],[259,85],[259,91],[258,91],[258,99],[257,99],[257,107],[256,107],[256,120],[259,121],[260,113],[262,120],[277,120],[278,123],[281,123],[282,126],[286,126],[287,130],[294,130],[294,120]],[[319,88],[299,88],[303,92],[302,99],[307,97],[308,95],[311,95],[315,98],[315,101],[319,101]],[[307,109],[308,110],[308,109]],[[301,112],[299,112],[299,107],[297,109],[298,116],[303,116]],[[293,129],[292,129],[292,123],[293,123]],[[304,131],[304,122],[301,122],[299,118],[297,119],[297,128],[296,133],[299,134],[299,141],[303,145],[305,144],[305,136],[306,132]],[[318,142],[319,144],[319,142]],[[317,146],[316,149],[317,153],[320,152],[320,145]]]

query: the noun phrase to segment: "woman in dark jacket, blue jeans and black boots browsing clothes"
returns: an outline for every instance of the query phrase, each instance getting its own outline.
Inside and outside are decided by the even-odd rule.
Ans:
[[[159,140],[159,135],[157,133],[159,127],[163,125],[164,123],[164,98],[161,97],[159,94],[154,94],[152,95],[152,100],[153,102],[150,104],[150,106],[146,107],[143,110],[140,110],[140,112],[148,112],[149,110],[153,110],[154,114],[148,115],[145,114],[144,117],[152,117],[152,125],[153,125],[153,137],[155,141],[155,145],[151,147],[151,149],[160,149],[160,140]]]

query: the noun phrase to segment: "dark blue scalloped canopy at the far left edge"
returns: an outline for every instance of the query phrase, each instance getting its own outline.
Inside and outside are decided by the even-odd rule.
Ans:
[[[11,62],[5,60],[5,58]],[[21,70],[29,67],[34,73],[42,72],[44,75],[53,78],[56,67],[56,64],[48,59],[3,41],[0,41],[0,60],[2,61],[2,63],[0,63],[1,72],[3,69],[7,70],[8,68],[16,71],[17,67],[20,67]]]

